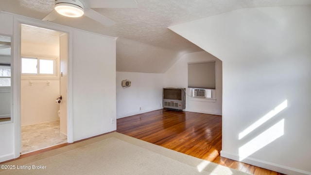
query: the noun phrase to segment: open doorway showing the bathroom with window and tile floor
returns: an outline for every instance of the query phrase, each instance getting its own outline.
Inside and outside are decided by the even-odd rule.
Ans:
[[[21,24],[20,46],[25,154],[67,142],[68,34]]]

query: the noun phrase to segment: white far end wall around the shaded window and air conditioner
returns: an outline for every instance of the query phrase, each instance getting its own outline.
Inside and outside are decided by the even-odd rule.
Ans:
[[[189,97],[188,63],[215,61],[216,101]],[[186,111],[222,115],[222,61],[207,52],[187,53],[165,72],[164,87],[187,88]],[[188,96],[189,95],[189,96]]]

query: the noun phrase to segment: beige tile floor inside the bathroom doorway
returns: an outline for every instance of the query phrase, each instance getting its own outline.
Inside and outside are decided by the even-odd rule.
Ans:
[[[59,132],[59,121],[21,127],[21,154],[67,143],[67,136]]]

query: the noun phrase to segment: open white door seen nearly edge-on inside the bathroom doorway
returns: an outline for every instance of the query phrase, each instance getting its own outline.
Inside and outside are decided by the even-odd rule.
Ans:
[[[67,136],[67,82],[68,82],[68,35],[63,34],[59,37],[60,49],[60,95],[62,102],[60,103],[60,132]]]

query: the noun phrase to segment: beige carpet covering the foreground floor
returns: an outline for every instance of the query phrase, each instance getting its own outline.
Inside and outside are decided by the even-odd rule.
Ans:
[[[0,175],[247,174],[114,132],[11,161]]]

